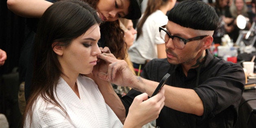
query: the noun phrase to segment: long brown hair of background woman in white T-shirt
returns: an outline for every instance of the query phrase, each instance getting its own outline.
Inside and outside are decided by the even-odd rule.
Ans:
[[[166,4],[167,2],[168,0],[148,0],[147,8],[137,25],[136,40],[138,40],[139,36],[142,35],[142,27],[145,21],[147,20],[148,16],[157,11],[157,9],[160,9],[160,7]]]

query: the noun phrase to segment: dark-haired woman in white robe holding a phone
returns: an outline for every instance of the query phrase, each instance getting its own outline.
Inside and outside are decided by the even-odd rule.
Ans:
[[[121,100],[104,100],[97,84],[111,84],[99,80],[97,73],[106,73],[108,65],[97,58],[114,55],[97,45],[100,23],[96,11],[80,0],[55,2],[44,12],[35,39],[33,86],[22,127],[132,128],[158,117],[164,90],[150,99],[146,93],[135,98],[125,121],[120,116],[125,113]],[[82,75],[92,71],[95,81]],[[112,110],[111,104],[117,109]]]

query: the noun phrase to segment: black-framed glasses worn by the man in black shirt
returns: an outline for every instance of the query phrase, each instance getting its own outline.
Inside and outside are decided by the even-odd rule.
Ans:
[[[187,44],[188,42],[195,41],[195,40],[202,40],[203,38],[209,36],[209,35],[201,35],[201,36],[185,39],[176,35],[171,35],[168,31],[166,31],[165,27],[166,27],[165,25],[159,27],[159,35],[161,39],[163,39],[164,42],[168,42],[169,39],[172,38],[172,42],[174,46],[176,46],[178,49],[184,49],[185,44]]]

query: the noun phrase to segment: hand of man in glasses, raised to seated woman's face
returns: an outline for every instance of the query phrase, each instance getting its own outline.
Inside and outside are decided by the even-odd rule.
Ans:
[[[108,53],[102,53],[98,57],[109,64],[107,72],[100,72],[97,74],[101,79],[119,86],[130,86],[132,85],[132,82],[137,81],[136,76],[132,73],[124,60],[118,60],[113,57],[113,54]]]

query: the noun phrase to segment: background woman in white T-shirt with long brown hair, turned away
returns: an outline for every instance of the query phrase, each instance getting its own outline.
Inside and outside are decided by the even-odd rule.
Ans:
[[[146,10],[137,24],[136,40],[128,50],[138,75],[146,62],[166,57],[165,43],[161,40],[158,29],[167,24],[166,13],[175,3],[176,0],[148,0]]]

